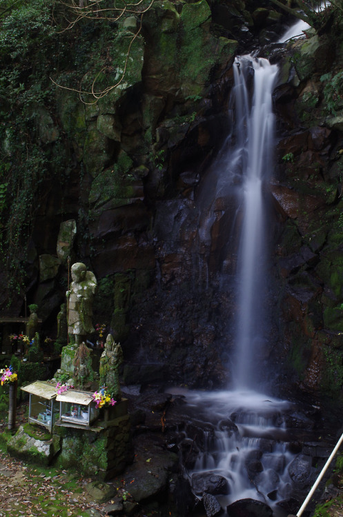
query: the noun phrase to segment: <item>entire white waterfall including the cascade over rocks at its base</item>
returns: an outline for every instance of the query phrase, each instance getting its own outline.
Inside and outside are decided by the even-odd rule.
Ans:
[[[233,69],[235,122],[224,146],[225,166],[213,182],[216,198],[222,192],[235,192],[233,221],[240,228],[233,386],[224,392],[186,393],[195,420],[206,427],[204,445],[186,476],[199,498],[202,490],[206,491],[204,480],[219,476],[224,488],[215,491],[215,497],[224,511],[236,500],[251,498],[272,507],[274,516],[285,516],[290,511],[283,511],[278,503],[291,497],[289,465],[295,459],[290,447],[292,431],[286,423],[287,415],[296,409],[288,401],[260,392],[255,375],[256,360],[268,334],[264,185],[271,176],[275,147],[272,94],[278,68],[267,59],[245,55],[235,59]],[[199,229],[204,243],[208,243],[215,221],[213,207],[206,210]],[[233,231],[237,233],[233,227],[228,229],[228,239]]]

